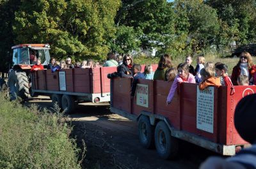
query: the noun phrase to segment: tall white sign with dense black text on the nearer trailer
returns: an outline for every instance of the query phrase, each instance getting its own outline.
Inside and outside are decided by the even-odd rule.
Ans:
[[[213,133],[214,87],[200,91],[197,87],[196,128]]]

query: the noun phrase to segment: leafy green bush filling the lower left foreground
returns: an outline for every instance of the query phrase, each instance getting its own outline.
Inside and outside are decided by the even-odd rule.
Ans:
[[[81,168],[72,128],[60,114],[37,109],[0,93],[0,168]]]

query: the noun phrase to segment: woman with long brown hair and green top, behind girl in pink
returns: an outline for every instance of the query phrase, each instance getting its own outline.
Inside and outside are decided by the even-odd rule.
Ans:
[[[160,61],[158,62],[157,70],[154,73],[154,80],[164,80],[165,71],[169,68],[172,68],[172,59],[170,55],[164,54],[161,56]]]

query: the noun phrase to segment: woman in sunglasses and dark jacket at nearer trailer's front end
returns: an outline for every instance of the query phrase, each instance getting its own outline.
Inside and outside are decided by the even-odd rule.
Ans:
[[[132,55],[125,55],[123,58],[123,64],[117,67],[117,73],[120,77],[132,77]]]

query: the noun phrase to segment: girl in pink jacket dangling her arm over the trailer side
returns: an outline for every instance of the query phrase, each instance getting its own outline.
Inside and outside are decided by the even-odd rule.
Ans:
[[[170,89],[170,92],[168,94],[168,97],[166,99],[166,104],[170,104],[172,102],[173,96],[175,94],[175,91],[177,89],[178,84],[182,82],[188,82],[195,84],[195,77],[189,73],[189,67],[186,63],[180,63],[177,67],[178,75],[175,77],[172,87]]]

